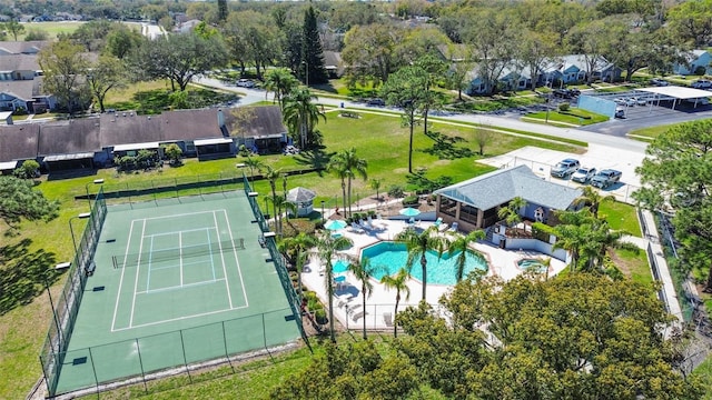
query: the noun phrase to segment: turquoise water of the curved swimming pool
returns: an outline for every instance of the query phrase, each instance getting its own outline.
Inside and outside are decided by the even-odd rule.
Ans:
[[[437,252],[431,251],[425,254],[427,259],[427,283],[433,284],[455,284],[455,262],[459,253],[454,253],[452,257],[444,252],[443,257],[438,260]],[[368,257],[370,266],[376,270],[374,278],[380,280],[386,274],[395,274],[406,266],[408,253],[406,246],[395,242],[379,242],[374,246],[367,247],[360,252],[362,259]],[[487,261],[484,257],[468,252],[467,261],[465,262],[465,271],[463,277],[466,277],[471,271],[487,270]],[[421,259],[418,258],[413,262],[411,269],[411,276],[418,281],[423,281],[423,270],[421,268]]]

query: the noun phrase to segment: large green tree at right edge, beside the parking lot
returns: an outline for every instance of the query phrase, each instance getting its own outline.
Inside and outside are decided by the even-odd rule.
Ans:
[[[708,272],[705,291],[712,291],[712,121],[676,126],[660,134],[645,150],[636,169],[641,188],[634,194],[644,207],[660,210],[672,198],[683,199],[672,223],[682,244],[680,257],[689,269]]]

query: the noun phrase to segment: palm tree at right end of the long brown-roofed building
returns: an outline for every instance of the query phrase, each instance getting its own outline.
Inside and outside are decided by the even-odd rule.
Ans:
[[[317,97],[309,89],[297,88],[284,99],[284,118],[291,134],[298,134],[301,149],[306,149],[314,127],[319,117],[326,122],[326,116],[313,100]]]

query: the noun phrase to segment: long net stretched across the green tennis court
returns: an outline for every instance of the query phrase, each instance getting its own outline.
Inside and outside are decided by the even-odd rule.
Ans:
[[[113,268],[138,267],[158,261],[189,259],[207,254],[217,254],[245,249],[245,238],[224,240],[216,243],[202,243],[171,249],[155,250],[140,253],[111,256]]]

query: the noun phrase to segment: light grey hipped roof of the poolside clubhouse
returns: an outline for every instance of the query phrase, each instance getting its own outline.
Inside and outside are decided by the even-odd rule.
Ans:
[[[435,193],[481,210],[504,204],[516,197],[551,209],[565,210],[582,191],[542,180],[528,167],[517,166],[452,184]]]

